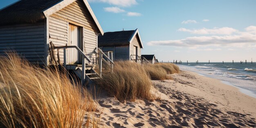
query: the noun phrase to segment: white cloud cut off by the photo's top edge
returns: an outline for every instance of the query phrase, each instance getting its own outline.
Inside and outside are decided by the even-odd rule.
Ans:
[[[136,0],[88,0],[88,2],[105,2],[108,4],[121,6],[121,7],[130,7],[137,4]]]

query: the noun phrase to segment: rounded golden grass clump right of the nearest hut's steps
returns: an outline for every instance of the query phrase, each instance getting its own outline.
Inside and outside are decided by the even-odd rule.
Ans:
[[[102,75],[97,84],[119,101],[135,101],[137,98],[154,100],[150,89],[150,77],[141,65],[130,61],[115,62],[114,73]]]

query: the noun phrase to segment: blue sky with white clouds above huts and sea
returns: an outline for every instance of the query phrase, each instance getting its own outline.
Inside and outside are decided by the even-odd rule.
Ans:
[[[138,28],[142,54],[159,61],[256,61],[256,0],[88,2],[104,32]]]

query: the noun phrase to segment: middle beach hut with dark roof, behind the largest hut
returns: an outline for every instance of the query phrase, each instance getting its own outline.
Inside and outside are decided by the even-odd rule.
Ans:
[[[98,46],[103,52],[113,52],[115,61],[132,60],[140,62],[143,44],[138,29],[106,32],[103,36],[99,36],[98,41]]]

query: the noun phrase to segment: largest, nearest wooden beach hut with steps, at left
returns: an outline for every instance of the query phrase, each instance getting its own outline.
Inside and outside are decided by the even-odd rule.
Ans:
[[[104,33],[87,0],[19,0],[0,9],[0,18],[0,54],[64,65],[81,79],[102,63],[97,40]]]

